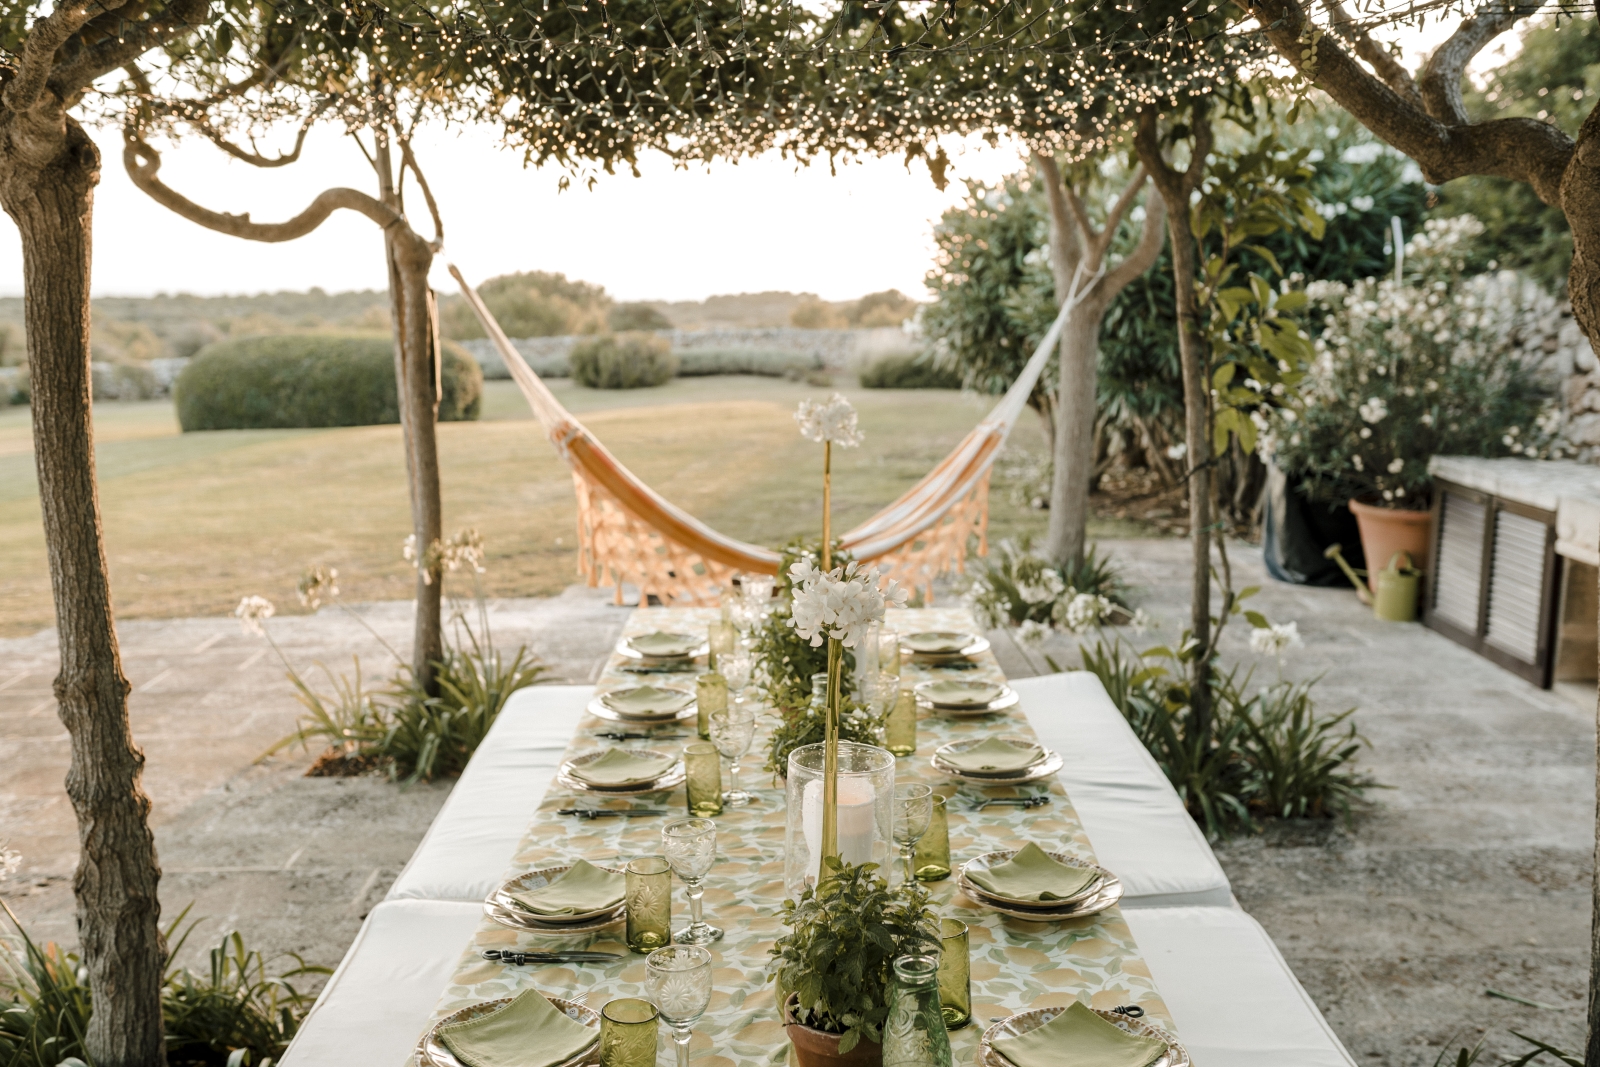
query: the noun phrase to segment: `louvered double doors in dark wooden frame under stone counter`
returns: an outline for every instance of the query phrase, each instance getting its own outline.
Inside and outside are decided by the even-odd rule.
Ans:
[[[1437,480],[1422,624],[1549,688],[1563,563],[1555,512]]]

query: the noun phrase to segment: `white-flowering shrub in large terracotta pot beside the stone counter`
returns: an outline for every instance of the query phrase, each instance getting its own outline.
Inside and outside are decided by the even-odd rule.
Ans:
[[[1400,550],[1426,569],[1434,456],[1560,453],[1555,382],[1517,347],[1530,304],[1550,298],[1509,270],[1464,277],[1482,232],[1472,216],[1429,219],[1403,282],[1306,286],[1317,357],[1261,450],[1312,499],[1349,501],[1371,574]]]

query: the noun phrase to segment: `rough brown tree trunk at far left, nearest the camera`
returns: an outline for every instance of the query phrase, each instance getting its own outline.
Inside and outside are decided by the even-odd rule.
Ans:
[[[99,1067],[152,1067],[166,1062],[166,942],[94,485],[90,221],[98,182],[99,152],[72,120],[43,168],[0,152],[0,203],[22,238],[34,456],[61,645],[54,691],[72,742],[66,785],[80,848],[72,889],[94,990],[85,1043]]]

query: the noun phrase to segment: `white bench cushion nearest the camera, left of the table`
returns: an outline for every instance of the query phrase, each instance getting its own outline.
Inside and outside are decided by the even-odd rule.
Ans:
[[[323,985],[282,1067],[406,1062],[482,918],[482,904],[462,901],[381,902]]]

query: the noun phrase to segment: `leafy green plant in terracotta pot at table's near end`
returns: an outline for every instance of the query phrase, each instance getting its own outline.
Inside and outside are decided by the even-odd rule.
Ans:
[[[773,945],[784,1029],[800,1067],[877,1067],[894,958],[938,952],[938,920],[920,883],[824,862],[834,873],[784,901],[789,933]]]

